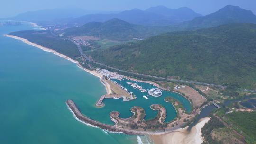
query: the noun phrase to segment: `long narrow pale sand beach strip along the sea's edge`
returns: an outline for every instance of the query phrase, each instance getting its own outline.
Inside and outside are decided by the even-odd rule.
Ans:
[[[36,25],[36,24],[35,24],[35,23],[32,23],[32,25]],[[101,75],[100,73],[95,72],[95,71],[91,71],[91,70],[88,70],[88,69],[82,67],[78,61],[75,61],[75,60],[73,60],[72,58],[70,58],[70,57],[68,57],[68,56],[66,56],[66,55],[64,55],[64,54],[61,54],[61,53],[59,53],[59,52],[56,52],[55,50],[52,50],[52,49],[47,48],[47,47],[44,47],[44,46],[42,46],[42,45],[37,45],[37,44],[35,44],[35,43],[32,43],[32,42],[28,41],[28,40],[25,39],[25,38],[21,38],[21,37],[18,37],[18,36],[12,36],[12,35],[4,35],[4,36],[21,40],[21,41],[23,41],[24,43],[26,43],[26,44],[28,44],[28,45],[35,46],[35,47],[40,48],[40,49],[42,49],[42,50],[44,50],[44,51],[46,51],[46,52],[51,52],[51,53],[53,53],[53,54],[55,54],[55,55],[58,55],[58,56],[60,56],[60,57],[62,57],[62,58],[64,58],[64,59],[67,59],[67,60],[69,60],[69,61],[71,61],[71,62],[73,62],[73,63],[76,63],[79,68],[81,68],[82,70],[84,70],[84,71],[86,71],[86,72],[91,73],[91,74],[94,75],[94,76],[99,77],[100,79],[101,79],[101,77],[103,77],[103,75]],[[103,83],[103,85],[105,86],[106,91],[107,91],[107,94],[111,94],[110,85],[109,85],[108,83],[102,82],[102,81],[101,81],[101,83]]]

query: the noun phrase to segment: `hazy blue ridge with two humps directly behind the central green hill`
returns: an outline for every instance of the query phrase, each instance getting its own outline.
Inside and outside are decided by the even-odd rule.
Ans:
[[[69,25],[81,26],[88,22],[105,22],[113,18],[118,18],[132,24],[146,26],[167,26],[179,22],[192,20],[201,14],[192,9],[183,7],[179,9],[169,9],[164,6],[151,7],[146,10],[131,9],[116,14],[90,14],[69,21]]]

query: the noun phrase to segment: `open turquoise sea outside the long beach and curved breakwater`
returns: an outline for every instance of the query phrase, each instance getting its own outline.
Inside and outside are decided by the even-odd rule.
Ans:
[[[95,102],[106,93],[99,78],[55,54],[4,34],[38,29],[0,26],[0,144],[148,144],[147,136],[108,133],[77,121],[65,101],[99,121]]]

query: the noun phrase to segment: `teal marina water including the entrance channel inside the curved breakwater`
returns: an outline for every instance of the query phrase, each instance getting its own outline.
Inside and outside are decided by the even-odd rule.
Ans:
[[[131,83],[137,83],[137,85],[141,86],[142,88],[146,90],[150,90],[151,88],[156,88],[154,85],[149,84],[149,83],[144,83],[144,82],[137,82],[137,81],[132,81],[128,79],[122,79],[122,80],[117,80],[117,79],[112,79],[112,81],[117,82],[119,85],[123,86],[126,88],[129,92],[132,92],[133,94],[136,95],[137,99],[131,100],[131,101],[123,101],[122,99],[104,99],[103,103],[105,106],[103,108],[94,108],[90,109],[90,111],[93,111],[93,113],[97,113],[100,117],[109,117],[109,114],[111,111],[119,111],[120,115],[119,117],[121,118],[128,118],[133,115],[133,113],[130,111],[130,109],[133,106],[139,106],[145,109],[146,112],[146,117],[145,120],[155,118],[157,115],[157,111],[152,110],[150,106],[152,104],[161,104],[166,108],[167,111],[167,117],[165,119],[165,122],[170,122],[174,120],[174,118],[177,116],[176,110],[174,106],[171,103],[165,102],[165,97],[171,96],[175,99],[177,99],[183,107],[186,109],[187,112],[191,111],[191,104],[188,99],[183,97],[182,95],[171,92],[171,91],[162,91],[162,96],[160,97],[153,97],[148,95],[147,92],[141,92],[141,90],[134,89],[131,85],[127,84],[127,82]],[[146,95],[148,99],[145,99],[143,96]],[[85,114],[86,116],[90,117],[91,119],[100,121],[102,123],[107,123],[107,124],[114,124],[110,118],[109,120],[104,119],[102,121],[101,119],[97,119],[96,117],[93,117],[93,115],[88,112],[88,110],[83,109],[82,103],[79,101],[74,101],[81,112]]]

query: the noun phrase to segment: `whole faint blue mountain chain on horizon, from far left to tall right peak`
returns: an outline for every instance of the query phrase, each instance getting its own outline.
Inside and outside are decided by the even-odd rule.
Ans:
[[[15,17],[4,19],[31,22],[48,21],[49,23],[54,21],[57,24],[73,27],[82,26],[88,22],[105,22],[110,19],[118,18],[137,25],[167,26],[201,16],[201,14],[186,7],[169,9],[164,6],[151,7],[146,10],[131,9],[121,12],[95,13],[95,11],[93,12],[79,8],[58,8],[30,11]]]

